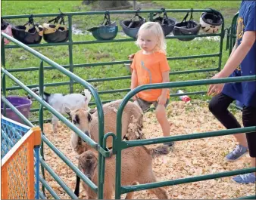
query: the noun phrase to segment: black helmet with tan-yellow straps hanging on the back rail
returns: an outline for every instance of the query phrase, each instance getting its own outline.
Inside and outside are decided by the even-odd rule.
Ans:
[[[54,21],[54,23],[57,23],[57,25],[49,24],[52,21]],[[61,26],[61,23],[63,24],[63,26]],[[63,13],[59,14],[54,19],[49,20],[48,23],[43,23],[42,28],[44,32],[43,38],[46,42],[48,43],[67,42],[68,29],[65,26]]]

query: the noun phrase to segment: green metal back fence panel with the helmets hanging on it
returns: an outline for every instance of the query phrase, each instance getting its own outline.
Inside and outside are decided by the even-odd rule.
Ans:
[[[205,12],[205,11],[215,11],[217,13],[220,13],[219,11],[216,11],[214,9],[166,9],[167,13],[183,13],[183,12]],[[150,17],[155,12],[161,12],[161,9],[155,9],[155,10],[126,10],[126,11],[109,11],[110,14],[135,14],[135,13],[141,13],[150,14]],[[62,42],[62,43],[45,43],[45,44],[37,44],[37,45],[28,45],[30,47],[48,47],[48,46],[59,46],[59,45],[67,45],[69,48],[69,60],[70,64],[65,65],[65,68],[69,68],[70,72],[73,72],[73,69],[76,67],[84,67],[84,66],[104,66],[104,65],[115,65],[120,63],[130,63],[130,61],[116,61],[116,62],[105,62],[105,63],[82,63],[82,64],[73,64],[73,45],[86,45],[86,44],[98,44],[98,43],[108,43],[108,42],[133,42],[135,41],[134,38],[124,38],[124,39],[114,39],[114,40],[105,40],[105,41],[99,41],[99,40],[92,40],[92,41],[79,41],[79,42],[73,42],[72,40],[72,17],[73,16],[81,16],[81,15],[94,15],[94,14],[105,14],[105,11],[92,11],[92,12],[67,12],[65,15],[68,17],[68,26],[69,26],[69,42]],[[10,15],[10,16],[3,16],[3,19],[18,19],[18,18],[27,18],[30,15]],[[33,14],[33,17],[56,17],[58,16],[58,13],[55,14]],[[167,60],[182,60],[182,59],[193,59],[198,57],[219,57],[218,61],[218,67],[216,69],[200,69],[200,70],[191,70],[191,72],[209,72],[209,71],[220,71],[220,64],[222,59],[222,47],[223,47],[223,38],[225,36],[225,30],[224,30],[224,18],[223,15],[220,14],[223,25],[220,33],[216,34],[199,34],[199,35],[179,35],[179,36],[167,36],[167,39],[173,39],[173,38],[203,38],[203,37],[211,37],[211,36],[218,36],[220,37],[220,52],[218,54],[205,54],[205,55],[193,55],[193,56],[185,56],[185,57],[169,57]],[[5,45],[4,49],[8,48],[19,48],[19,45]],[[27,69],[27,68],[26,68]],[[45,69],[52,69],[51,67],[46,67]],[[24,69],[10,69],[10,72],[23,72]],[[30,68],[28,69],[30,70]],[[38,70],[36,67],[31,67],[31,70]],[[171,74],[181,74],[186,73],[188,71],[184,72],[172,72]],[[114,77],[114,78],[97,78],[97,82],[103,82],[108,80],[119,80],[119,79],[126,79],[130,78],[130,76],[126,76],[123,78]],[[87,80],[87,82],[96,82],[96,80]],[[47,86],[54,86],[54,85],[70,85],[70,93],[73,93],[73,79],[70,78],[70,82],[61,82],[61,83],[51,83]],[[9,89],[17,89],[17,87],[11,87]],[[110,90],[111,93],[111,90]]]

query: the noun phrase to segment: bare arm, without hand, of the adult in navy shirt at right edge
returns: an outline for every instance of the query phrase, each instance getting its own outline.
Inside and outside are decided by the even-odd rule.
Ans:
[[[239,66],[242,63],[242,60],[244,60],[245,56],[250,51],[252,45],[254,45],[255,42],[255,31],[246,31],[242,37],[242,42],[239,45],[238,48],[235,49],[235,51],[232,52],[232,54],[229,57],[229,60],[227,60],[226,65],[224,68],[218,73],[219,78],[225,78],[228,77],[237,66]]]

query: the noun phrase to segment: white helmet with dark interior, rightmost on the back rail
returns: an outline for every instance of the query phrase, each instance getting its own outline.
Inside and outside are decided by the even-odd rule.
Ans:
[[[201,14],[200,24],[204,32],[216,33],[219,31],[223,21],[217,12],[205,12]]]

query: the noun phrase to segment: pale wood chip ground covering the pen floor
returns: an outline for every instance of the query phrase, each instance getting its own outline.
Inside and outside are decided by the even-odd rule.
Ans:
[[[184,103],[182,101],[171,102],[167,106],[167,115],[171,125],[170,132],[172,135],[193,134],[223,129],[223,125],[208,111],[208,104],[199,100],[194,100],[192,103]],[[236,112],[235,115],[239,119],[239,122],[241,122],[242,113]],[[158,125],[154,112],[145,113],[143,123],[143,132],[146,138],[162,136],[161,127]],[[61,125],[58,128],[58,133],[53,134],[51,124],[45,124],[44,128],[45,136],[76,165],[77,160],[74,157],[76,153],[70,147],[70,129]],[[158,180],[174,180],[183,177],[249,168],[250,157],[248,154],[236,162],[223,161],[225,155],[235,146],[236,140],[231,135],[176,142],[173,152],[169,155],[155,158],[153,169]],[[46,145],[44,152],[45,162],[50,165],[67,186],[74,189],[76,177],[73,171]],[[48,172],[46,172],[45,176],[48,184],[52,186],[61,198],[70,198]],[[170,198],[173,199],[223,199],[255,194],[254,184],[241,185],[233,183],[231,177],[166,186],[164,188],[167,190]],[[80,190],[80,198],[87,198],[82,186]],[[52,198],[48,192],[46,194],[48,198]],[[139,191],[135,192],[133,198],[154,199],[156,196],[149,194],[147,191]]]

